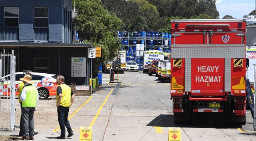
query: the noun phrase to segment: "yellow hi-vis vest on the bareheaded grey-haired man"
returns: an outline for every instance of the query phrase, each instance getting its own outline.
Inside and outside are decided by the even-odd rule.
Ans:
[[[71,105],[71,89],[68,85],[66,84],[61,84],[59,85],[62,90],[62,97],[61,97],[61,102],[59,103],[63,107],[70,107]],[[58,95],[56,94],[56,103],[58,103]]]

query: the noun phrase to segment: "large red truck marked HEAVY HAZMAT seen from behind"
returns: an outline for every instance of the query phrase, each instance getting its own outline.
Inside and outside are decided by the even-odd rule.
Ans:
[[[175,123],[221,114],[246,123],[244,19],[171,20],[171,99]]]

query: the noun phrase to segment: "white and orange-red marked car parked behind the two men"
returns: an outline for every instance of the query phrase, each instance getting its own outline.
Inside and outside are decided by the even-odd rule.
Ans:
[[[15,73],[15,95],[18,96],[19,86],[22,82],[20,78],[23,78],[26,73]],[[47,99],[49,96],[55,96],[57,90],[57,75],[47,73],[33,73],[32,82],[37,87],[39,99]],[[3,95],[10,95],[10,75],[6,75],[1,78],[1,83],[4,83]]]

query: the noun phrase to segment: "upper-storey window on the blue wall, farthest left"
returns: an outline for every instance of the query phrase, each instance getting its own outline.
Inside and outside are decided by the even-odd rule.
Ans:
[[[18,7],[4,7],[4,27],[19,27]]]

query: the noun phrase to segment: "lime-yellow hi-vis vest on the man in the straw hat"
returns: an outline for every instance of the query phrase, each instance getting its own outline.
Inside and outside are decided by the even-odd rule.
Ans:
[[[37,106],[37,88],[32,85],[25,86],[26,100],[22,101],[22,107],[36,107]]]

